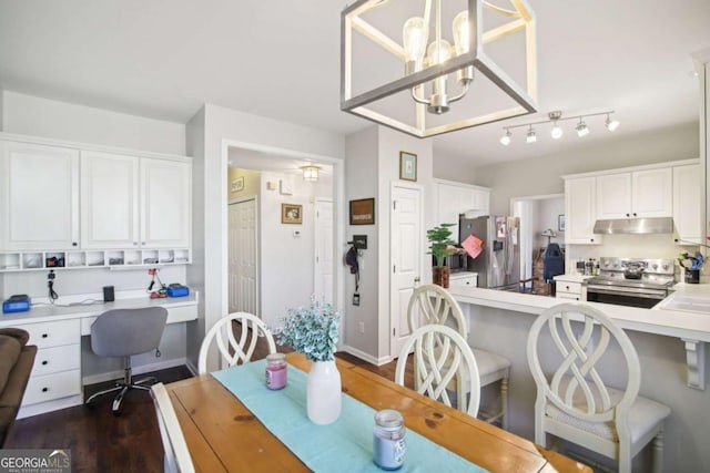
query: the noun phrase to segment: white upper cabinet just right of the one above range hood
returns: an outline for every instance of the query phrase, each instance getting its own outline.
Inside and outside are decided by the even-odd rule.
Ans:
[[[673,225],[679,245],[702,243],[700,165],[673,167]]]

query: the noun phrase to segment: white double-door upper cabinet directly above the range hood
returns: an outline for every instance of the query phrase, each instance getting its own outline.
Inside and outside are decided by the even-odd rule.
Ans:
[[[670,217],[671,167],[597,177],[597,218]]]

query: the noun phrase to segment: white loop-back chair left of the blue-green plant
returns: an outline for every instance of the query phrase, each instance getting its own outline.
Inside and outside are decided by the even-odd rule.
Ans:
[[[242,323],[239,340],[234,337],[233,321]],[[216,341],[222,359],[227,366],[233,367],[250,362],[256,343],[262,338],[268,343],[268,353],[275,353],[276,343],[274,342],[274,337],[256,316],[246,312],[234,312],[221,318],[204,336],[197,359],[199,373],[204,374],[207,372],[207,353],[212,340]]]

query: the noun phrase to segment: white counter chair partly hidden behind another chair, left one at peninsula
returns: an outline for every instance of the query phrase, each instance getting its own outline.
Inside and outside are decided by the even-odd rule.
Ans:
[[[446,289],[437,285],[424,285],[414,289],[409,298],[407,319],[410,331],[425,323],[440,323],[453,327],[464,339],[467,337],[466,321],[460,306]],[[486,387],[500,381],[500,411],[480,412],[480,415],[488,423],[499,421],[500,425],[507,430],[510,360],[475,347],[471,347],[471,350],[478,363],[480,385]],[[415,388],[417,388],[416,384]]]

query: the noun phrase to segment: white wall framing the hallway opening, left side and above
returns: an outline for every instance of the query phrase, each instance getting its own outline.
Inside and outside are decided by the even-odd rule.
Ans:
[[[206,104],[191,120],[186,133],[187,150],[195,158],[197,168],[193,174],[194,214],[204,214],[204,217],[194,225],[195,233],[200,235],[195,238],[197,247],[193,246],[193,257],[200,264],[189,268],[187,274],[189,281],[199,285],[204,295],[200,309],[201,317],[204,316],[204,318],[200,320],[199,331],[191,333],[193,340],[190,342],[190,354],[195,362],[199,342],[204,336],[204,327],[212,327],[227,311],[225,183],[229,146],[242,146],[246,143],[311,156],[323,156],[324,161],[334,160],[337,174],[339,172],[337,163],[344,155],[344,138],[335,133],[212,104]],[[337,207],[342,206],[342,203],[336,202],[335,205],[336,214],[343,215],[343,207]],[[337,230],[336,235],[338,235]],[[195,255],[196,253],[199,255]],[[215,358],[211,358],[210,366],[213,367],[215,363]]]

